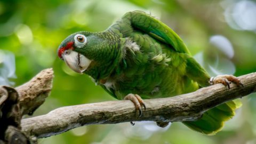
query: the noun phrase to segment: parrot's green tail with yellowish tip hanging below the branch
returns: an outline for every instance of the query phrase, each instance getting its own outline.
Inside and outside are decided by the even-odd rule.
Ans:
[[[224,122],[235,115],[235,110],[242,106],[238,99],[223,103],[215,108],[206,111],[198,121],[183,122],[190,129],[214,135],[222,129]]]

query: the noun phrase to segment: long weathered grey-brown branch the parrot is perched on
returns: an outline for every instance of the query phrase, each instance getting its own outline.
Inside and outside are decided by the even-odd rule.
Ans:
[[[44,138],[90,124],[193,121],[210,108],[256,91],[256,73],[241,76],[239,79],[244,87],[231,84],[228,89],[222,84],[216,84],[176,97],[147,99],[147,109],[141,117],[138,117],[138,112],[129,100],[61,107],[46,115],[22,119],[22,131],[37,138]]]

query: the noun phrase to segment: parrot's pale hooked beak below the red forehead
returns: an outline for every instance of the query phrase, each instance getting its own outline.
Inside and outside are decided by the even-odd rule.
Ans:
[[[69,68],[79,74],[82,74],[91,63],[91,60],[87,59],[84,55],[72,50],[65,51],[62,54],[62,58],[65,60]]]

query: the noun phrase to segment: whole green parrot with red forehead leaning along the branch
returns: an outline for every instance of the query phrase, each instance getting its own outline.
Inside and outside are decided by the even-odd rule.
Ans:
[[[216,83],[242,86],[232,75],[211,78],[171,28],[142,11],[127,12],[102,32],[71,34],[60,44],[58,56],[114,98],[131,100],[140,116],[142,107],[146,109],[143,99],[172,97]],[[182,123],[213,135],[240,106],[239,100],[229,101],[197,121]]]

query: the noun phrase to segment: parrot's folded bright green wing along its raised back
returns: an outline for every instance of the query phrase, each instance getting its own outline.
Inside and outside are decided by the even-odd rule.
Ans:
[[[175,51],[190,55],[185,43],[170,27],[145,12],[127,12],[121,21],[114,23],[111,28],[119,30],[118,32],[123,34],[123,37],[132,30],[143,31],[158,41],[171,45],[170,47],[173,47]]]

